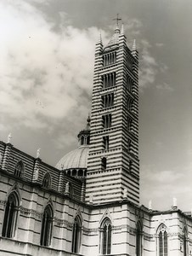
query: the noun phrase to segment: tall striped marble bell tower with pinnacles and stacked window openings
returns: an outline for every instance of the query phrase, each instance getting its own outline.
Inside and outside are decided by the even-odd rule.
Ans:
[[[124,27],[95,49],[86,201],[139,202],[138,50]]]

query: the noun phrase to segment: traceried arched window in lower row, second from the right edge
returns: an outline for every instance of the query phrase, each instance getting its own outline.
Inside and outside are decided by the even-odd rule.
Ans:
[[[168,254],[168,247],[167,247],[167,228],[164,224],[161,224],[159,228],[158,234],[158,255],[159,256],[167,256]]]

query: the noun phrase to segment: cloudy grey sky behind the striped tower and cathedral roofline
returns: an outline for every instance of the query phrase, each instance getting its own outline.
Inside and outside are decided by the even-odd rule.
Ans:
[[[117,13],[139,52],[140,204],[191,211],[191,0],[0,0],[0,140],[52,166],[77,147]]]

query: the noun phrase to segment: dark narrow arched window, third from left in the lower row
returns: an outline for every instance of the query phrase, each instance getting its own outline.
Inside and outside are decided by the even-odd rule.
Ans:
[[[79,248],[81,245],[81,220],[78,216],[74,219],[73,233],[72,233],[72,253],[79,253]]]

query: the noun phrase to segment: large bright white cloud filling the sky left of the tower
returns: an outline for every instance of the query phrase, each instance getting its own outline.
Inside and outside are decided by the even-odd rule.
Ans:
[[[53,132],[65,120],[65,131],[88,115],[99,30],[70,26],[64,14],[62,24],[56,32],[29,2],[0,3],[0,123]]]

